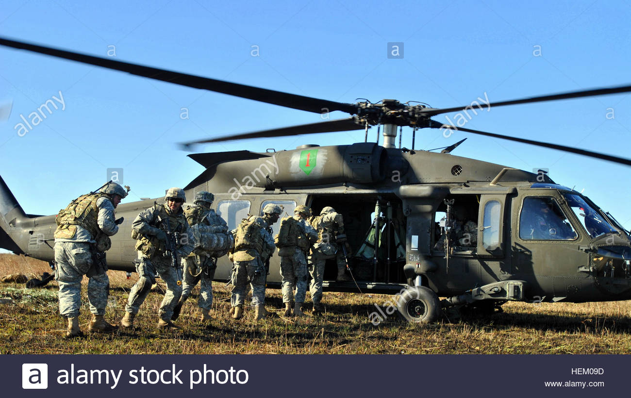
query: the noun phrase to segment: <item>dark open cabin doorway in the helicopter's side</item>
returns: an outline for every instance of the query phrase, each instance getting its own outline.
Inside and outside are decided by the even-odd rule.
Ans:
[[[406,217],[401,199],[388,194],[314,195],[309,205],[314,216],[327,206],[342,214],[350,245],[348,262],[356,281],[405,281]],[[324,280],[334,281],[336,276],[336,259],[327,259]]]

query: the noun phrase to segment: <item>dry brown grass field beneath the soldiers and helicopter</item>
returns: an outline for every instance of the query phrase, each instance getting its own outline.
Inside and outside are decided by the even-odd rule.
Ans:
[[[0,254],[0,276],[50,271],[45,262]],[[118,321],[136,274],[110,271],[106,319]],[[85,283],[86,279],[84,279]],[[625,354],[631,353],[631,301],[606,303],[506,303],[490,317],[448,315],[435,324],[411,325],[396,315],[375,326],[368,313],[391,296],[326,293],[326,313],[286,318],[279,290],[268,290],[266,320],[253,319],[253,308],[239,321],[228,315],[230,287],[215,283],[209,325],[198,321],[197,290],[177,321],[177,332],[159,332],[156,313],[160,284],[137,318],[139,329],[110,335],[86,334],[66,340],[65,320],[58,314],[57,284],[27,290],[23,284],[0,283],[0,354]],[[307,295],[309,297],[309,295]],[[85,289],[81,327],[90,320]],[[310,308],[309,298],[305,304]]]

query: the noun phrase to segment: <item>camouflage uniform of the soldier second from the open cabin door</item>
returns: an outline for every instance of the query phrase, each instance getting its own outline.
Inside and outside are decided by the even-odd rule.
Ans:
[[[307,258],[305,252],[309,252],[311,243],[316,242],[318,235],[317,231],[299,214],[295,214],[293,219],[297,221],[298,233],[302,235],[301,240],[304,243],[299,243],[302,247],[297,244],[291,247],[283,247],[279,250],[279,255],[281,252],[292,252],[290,255],[281,256],[280,259],[280,274],[283,278],[281,290],[283,292],[283,303],[292,303],[294,300],[294,288],[296,290],[296,303],[304,303],[307,295]],[[295,240],[295,238],[293,239]]]

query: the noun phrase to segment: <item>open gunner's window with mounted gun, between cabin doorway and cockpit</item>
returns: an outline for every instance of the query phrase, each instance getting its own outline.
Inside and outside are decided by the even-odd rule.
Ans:
[[[433,250],[471,254],[478,245],[477,195],[449,196],[434,216]]]

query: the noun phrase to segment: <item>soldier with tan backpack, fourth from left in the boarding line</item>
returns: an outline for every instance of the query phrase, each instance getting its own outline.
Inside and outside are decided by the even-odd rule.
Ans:
[[[233,231],[235,235],[235,252],[232,254],[232,317],[243,317],[243,305],[247,294],[247,284],[252,286],[252,305],[256,307],[256,319],[264,319],[265,281],[267,279],[266,262],[274,252],[274,238],[269,233],[271,227],[283,209],[276,204],[268,204],[263,208],[263,216],[250,216],[241,221]]]

